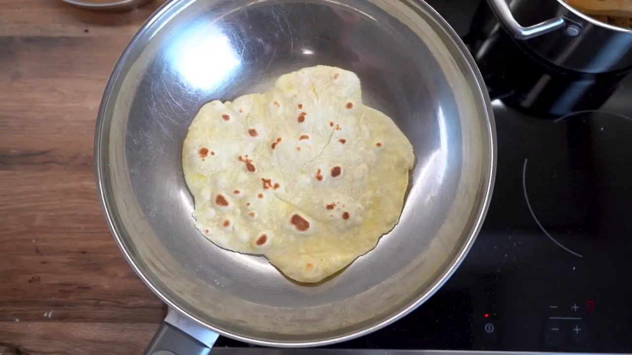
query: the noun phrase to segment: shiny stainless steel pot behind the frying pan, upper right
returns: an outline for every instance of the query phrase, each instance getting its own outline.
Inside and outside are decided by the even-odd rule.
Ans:
[[[581,73],[632,68],[632,31],[597,21],[563,0],[487,0],[502,27],[533,54]]]

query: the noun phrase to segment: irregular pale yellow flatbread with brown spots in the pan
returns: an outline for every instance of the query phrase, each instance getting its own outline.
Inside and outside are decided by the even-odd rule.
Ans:
[[[329,66],[205,104],[182,154],[197,229],[300,282],[375,248],[399,220],[415,160],[398,126],[362,104],[358,77]]]

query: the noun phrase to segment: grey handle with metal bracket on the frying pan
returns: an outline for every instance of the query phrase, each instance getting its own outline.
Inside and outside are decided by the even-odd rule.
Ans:
[[[145,350],[145,355],[207,355],[219,334],[171,308]]]

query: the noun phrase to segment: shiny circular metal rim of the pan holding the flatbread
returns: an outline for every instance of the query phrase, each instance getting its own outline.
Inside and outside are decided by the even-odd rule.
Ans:
[[[216,327],[212,324],[201,320],[197,316],[193,315],[193,313],[186,310],[185,306],[181,306],[174,302],[172,299],[169,299],[167,296],[168,287],[161,285],[157,280],[152,280],[150,277],[145,275],[141,270],[140,258],[137,256],[133,256],[132,251],[130,250],[130,246],[126,239],[128,239],[125,234],[125,231],[121,231],[121,227],[119,226],[118,212],[116,210],[116,203],[114,203],[113,198],[109,191],[111,191],[111,186],[107,186],[106,181],[109,180],[109,176],[107,172],[109,172],[109,167],[107,167],[109,161],[109,152],[107,149],[107,141],[109,140],[109,128],[111,127],[111,117],[106,117],[106,111],[110,107],[111,100],[116,99],[113,97],[113,94],[116,93],[116,86],[119,84],[120,76],[124,75],[123,67],[124,64],[127,63],[131,51],[135,49],[135,45],[147,34],[150,26],[157,20],[161,19],[164,14],[171,8],[177,8],[181,6],[181,3],[191,3],[196,0],[174,0],[169,1],[163,4],[159,9],[157,9],[150,18],[143,23],[142,27],[138,30],[137,33],[132,37],[125,50],[122,52],[121,56],[119,56],[118,61],[116,62],[114,69],[107,81],[106,88],[104,89],[104,93],[102,95],[99,112],[97,114],[97,122],[95,126],[95,138],[94,138],[94,164],[95,164],[95,178],[97,180],[97,193],[99,195],[99,201],[101,208],[104,212],[104,217],[106,218],[107,226],[118,244],[119,249],[125,256],[126,261],[133,268],[134,272],[140,277],[141,280],[149,287],[149,289],[154,292],[156,296],[158,296],[164,303],[167,304],[170,308],[178,311],[182,315],[185,315],[193,322],[198,325],[208,328],[217,334],[223,335],[225,337],[240,340],[242,342],[248,342],[250,344],[260,345],[260,346],[268,346],[268,347],[315,347],[315,346],[326,346],[331,344],[336,344],[339,342],[344,342],[347,340],[355,339],[357,337],[361,337],[363,335],[370,334],[379,330],[380,328],[386,327],[387,325],[396,322],[403,316],[407,315],[411,311],[415,310],[420,304],[425,303],[434,293],[440,289],[446,281],[454,274],[454,271],[461,265],[463,259],[468,254],[471,249],[471,246],[475,242],[478,236],[478,232],[482,227],[483,221],[485,220],[485,215],[487,215],[487,210],[489,208],[490,200],[492,197],[492,192],[494,188],[495,181],[495,171],[496,171],[496,130],[495,130],[495,122],[492,111],[492,104],[490,102],[489,94],[487,93],[487,88],[485,87],[485,83],[483,81],[482,75],[478,70],[478,66],[475,63],[474,58],[471,56],[470,52],[466,48],[465,44],[458,37],[458,34],[454,31],[454,29],[447,23],[447,21],[437,13],[431,6],[425,3],[423,0],[406,0],[406,3],[409,3],[413,6],[418,7],[419,9],[423,9],[423,11],[427,12],[428,15],[432,17],[432,19],[437,23],[438,28],[444,31],[444,34],[452,41],[451,45],[454,45],[458,52],[465,59],[465,63],[468,68],[470,68],[470,73],[473,74],[473,78],[475,79],[476,87],[471,87],[474,96],[479,97],[479,102],[484,102],[484,105],[480,105],[482,109],[484,109],[484,113],[488,117],[487,125],[485,127],[482,126],[487,132],[486,134],[489,136],[489,159],[490,165],[487,169],[483,169],[482,176],[489,177],[486,179],[487,181],[483,181],[483,189],[481,191],[481,202],[478,205],[478,210],[473,213],[475,215],[475,221],[473,222],[473,228],[471,229],[470,236],[466,239],[465,243],[461,246],[461,249],[454,256],[454,260],[451,262],[451,265],[446,268],[446,270],[438,273],[437,280],[434,285],[427,289],[423,294],[415,298],[415,301],[410,302],[409,304],[405,304],[401,310],[396,313],[392,313],[391,315],[383,318],[379,322],[376,322],[368,327],[361,328],[356,330],[353,333],[342,334],[339,336],[329,337],[326,339],[320,340],[290,340],[290,341],[279,341],[279,340],[265,340],[257,337],[248,337],[239,334],[233,334],[226,330],[222,330],[219,327]],[[478,90],[475,90],[478,89]],[[486,171],[485,171],[486,170]]]

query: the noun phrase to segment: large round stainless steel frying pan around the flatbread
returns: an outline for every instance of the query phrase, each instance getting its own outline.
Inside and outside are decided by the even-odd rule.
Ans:
[[[317,64],[360,77],[363,101],[396,121],[416,165],[392,232],[343,272],[305,286],[195,229],[180,156],[202,104],[263,92]],[[112,72],[95,165],[114,239],[171,308],[147,353],[205,354],[217,335],[190,336],[200,334],[323,346],[394,322],[453,274],[490,202],[495,127],[465,45],[421,1],[176,0],[140,28]]]

